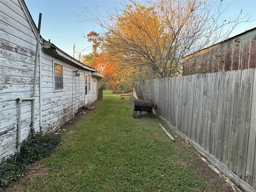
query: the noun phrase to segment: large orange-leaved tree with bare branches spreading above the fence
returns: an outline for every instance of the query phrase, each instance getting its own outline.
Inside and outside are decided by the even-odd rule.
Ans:
[[[130,1],[108,22],[83,18],[106,29],[102,46],[122,68],[154,78],[182,75],[186,55],[225,40],[239,22],[249,20],[241,14],[222,18],[225,9],[199,0]]]

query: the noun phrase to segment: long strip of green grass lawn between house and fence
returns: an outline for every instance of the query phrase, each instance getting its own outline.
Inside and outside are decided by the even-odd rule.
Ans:
[[[7,191],[230,190],[194,148],[172,142],[159,119],[134,119],[129,97],[104,94],[97,109],[63,133],[56,153],[39,162],[44,169]]]

